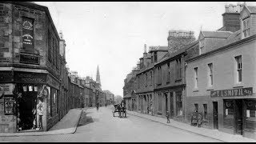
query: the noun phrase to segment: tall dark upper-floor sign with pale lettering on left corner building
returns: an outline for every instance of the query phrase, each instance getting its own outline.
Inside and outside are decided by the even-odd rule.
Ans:
[[[32,18],[22,18],[22,44],[28,51],[34,50],[34,20]]]

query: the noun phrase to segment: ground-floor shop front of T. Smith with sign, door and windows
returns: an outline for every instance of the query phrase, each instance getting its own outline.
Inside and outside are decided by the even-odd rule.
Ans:
[[[210,96],[219,98],[213,102],[214,129],[256,138],[256,98],[252,87],[213,90]]]

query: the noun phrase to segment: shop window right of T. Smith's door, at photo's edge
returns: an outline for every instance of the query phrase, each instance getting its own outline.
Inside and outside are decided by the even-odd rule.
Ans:
[[[246,121],[256,121],[256,100],[246,101]]]

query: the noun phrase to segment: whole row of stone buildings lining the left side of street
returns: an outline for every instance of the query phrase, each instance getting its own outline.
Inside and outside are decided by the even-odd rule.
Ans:
[[[70,109],[105,101],[100,82],[66,67],[66,42],[46,6],[0,2],[0,133],[38,127],[40,107],[49,130]]]

